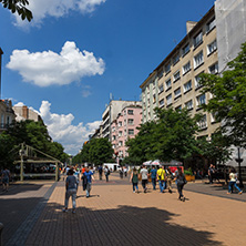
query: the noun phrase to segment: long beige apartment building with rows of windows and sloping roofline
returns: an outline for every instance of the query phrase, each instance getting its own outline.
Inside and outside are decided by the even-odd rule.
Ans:
[[[186,23],[187,34],[141,84],[143,122],[153,120],[154,107],[187,107],[202,113],[199,135],[211,136],[218,126],[201,105],[211,99],[203,94],[201,73],[218,73],[216,21],[214,7],[196,23]]]

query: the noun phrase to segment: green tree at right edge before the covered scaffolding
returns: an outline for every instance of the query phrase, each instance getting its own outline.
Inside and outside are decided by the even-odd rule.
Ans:
[[[246,147],[246,42],[228,68],[223,76],[201,75],[203,92],[213,94],[203,109],[222,122],[218,130],[230,144]]]

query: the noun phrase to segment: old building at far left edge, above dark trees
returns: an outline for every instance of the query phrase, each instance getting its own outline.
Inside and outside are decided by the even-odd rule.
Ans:
[[[16,120],[11,100],[0,100],[0,133]]]

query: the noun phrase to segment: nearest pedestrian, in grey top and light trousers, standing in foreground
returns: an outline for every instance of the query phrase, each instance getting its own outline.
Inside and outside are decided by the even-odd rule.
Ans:
[[[75,213],[76,208],[76,186],[78,186],[78,181],[76,177],[73,175],[73,170],[68,171],[68,177],[65,178],[65,208],[63,212],[68,212],[69,207],[69,198],[70,196],[72,197],[72,213]]]

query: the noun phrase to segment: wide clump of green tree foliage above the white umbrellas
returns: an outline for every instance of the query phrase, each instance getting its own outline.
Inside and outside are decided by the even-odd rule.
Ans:
[[[142,124],[136,137],[126,142],[129,161],[183,161],[198,152],[195,134],[199,115],[191,117],[185,109],[156,109],[155,113],[157,120]]]

